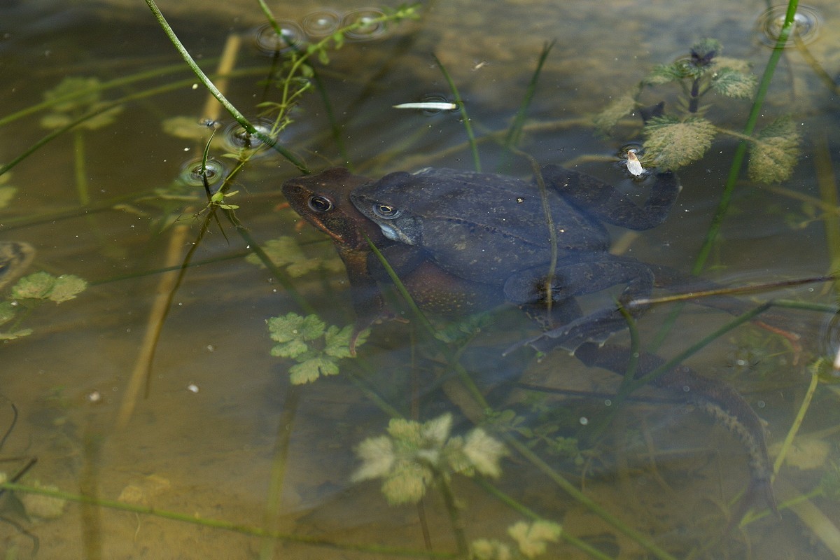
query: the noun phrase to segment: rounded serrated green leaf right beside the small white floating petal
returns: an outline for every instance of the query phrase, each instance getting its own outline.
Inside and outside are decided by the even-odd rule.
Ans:
[[[703,157],[717,129],[701,117],[657,117],[648,121],[644,133],[644,149],[653,164],[660,170],[675,170]]]

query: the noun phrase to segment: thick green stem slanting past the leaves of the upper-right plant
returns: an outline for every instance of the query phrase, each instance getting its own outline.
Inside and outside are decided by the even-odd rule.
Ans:
[[[796,14],[796,7],[798,4],[798,0],[790,0],[790,2],[788,2],[787,13],[785,13],[785,23],[782,24],[779,39],[776,40],[773,53],[770,55],[770,58],[767,61],[767,66],[764,68],[764,74],[761,76],[761,82],[759,83],[759,90],[756,92],[755,98],[753,99],[753,107],[750,109],[747,123],[743,127],[743,134],[746,136],[752,135],[753,130],[755,129],[755,124],[759,120],[761,107],[764,105],[764,97],[767,96],[767,91],[770,86],[770,81],[773,80],[776,65],[779,64],[782,51],[785,49],[785,44],[787,43],[787,40],[790,37],[790,32],[793,29],[794,16]],[[720,233],[723,220],[729,211],[729,204],[732,201],[732,193],[735,191],[735,185],[738,182],[738,175],[741,174],[741,167],[746,154],[747,143],[741,140],[741,142],[738,143],[738,148],[735,149],[735,154],[732,156],[732,165],[729,167],[729,175],[727,175],[727,182],[723,187],[721,199],[717,203],[717,211],[711,220],[709,230],[706,232],[706,239],[703,241],[700,253],[697,255],[694,268],[691,270],[691,272],[695,275],[700,274],[703,267],[706,265],[706,260],[709,258],[709,254],[711,254],[711,249],[717,240],[718,233]]]

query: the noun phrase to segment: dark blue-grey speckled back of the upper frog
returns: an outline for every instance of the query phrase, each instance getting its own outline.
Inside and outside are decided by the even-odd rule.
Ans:
[[[429,168],[386,175],[363,187],[377,201],[411,212],[423,247],[446,270],[476,281],[548,263],[550,236],[538,187],[507,175]],[[608,238],[549,189],[559,254],[606,250]]]

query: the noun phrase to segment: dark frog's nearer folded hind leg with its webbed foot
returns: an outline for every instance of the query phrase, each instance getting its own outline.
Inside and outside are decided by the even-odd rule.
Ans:
[[[505,296],[519,305],[532,305],[546,301],[546,272],[540,268],[525,270],[505,283]],[[585,254],[561,259],[554,270],[551,283],[553,301],[564,301],[575,296],[606,290],[614,285],[626,285],[618,297],[619,304],[649,296],[654,288],[654,274],[647,264],[627,257],[611,254]],[[632,314],[638,316],[646,306],[634,306]],[[555,325],[538,337],[525,341],[533,348],[548,352],[561,347],[574,352],[586,342],[603,343],[613,332],[627,327],[627,320],[617,306],[609,306],[562,325]]]

